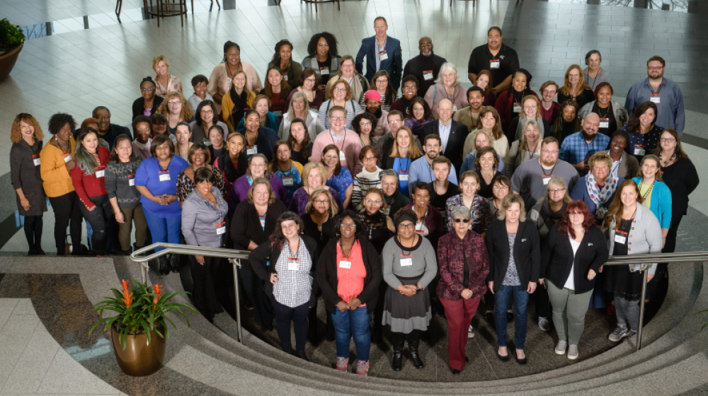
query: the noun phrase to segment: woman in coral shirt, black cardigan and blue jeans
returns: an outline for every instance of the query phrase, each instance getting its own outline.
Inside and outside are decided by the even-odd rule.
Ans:
[[[354,211],[343,211],[336,229],[338,238],[327,243],[317,264],[317,282],[324,306],[334,322],[336,369],[347,370],[353,337],[357,374],[367,375],[371,349],[369,325],[379,298],[381,259],[364,235],[364,225]]]

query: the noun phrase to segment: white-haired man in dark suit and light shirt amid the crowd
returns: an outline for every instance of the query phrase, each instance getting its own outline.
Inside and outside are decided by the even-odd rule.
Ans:
[[[446,156],[455,165],[455,169],[462,167],[462,149],[464,139],[467,139],[467,126],[462,122],[452,120],[452,102],[450,99],[440,100],[438,103],[438,114],[440,118],[433,122],[428,122],[423,127],[423,132],[428,136],[435,134],[440,136],[442,151],[440,154]]]

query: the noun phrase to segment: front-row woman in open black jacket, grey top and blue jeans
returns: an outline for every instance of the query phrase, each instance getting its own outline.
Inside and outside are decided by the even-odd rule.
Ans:
[[[486,245],[489,252],[489,289],[495,295],[494,325],[499,344],[497,356],[508,361],[506,349],[506,309],[514,298],[516,361],[526,364],[524,343],[529,294],[539,280],[541,247],[535,223],[526,221],[523,198],[508,194],[502,201],[498,219],[487,228]],[[510,254],[513,252],[513,254]]]

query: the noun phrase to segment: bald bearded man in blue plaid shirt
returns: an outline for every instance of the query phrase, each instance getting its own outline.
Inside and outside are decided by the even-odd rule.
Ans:
[[[571,163],[581,176],[590,172],[588,158],[598,151],[603,151],[610,143],[610,136],[598,134],[600,116],[591,112],[581,122],[581,132],[566,137],[561,145],[561,160]]]

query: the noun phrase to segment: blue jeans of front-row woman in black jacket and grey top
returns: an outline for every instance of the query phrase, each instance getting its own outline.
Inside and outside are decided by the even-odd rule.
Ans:
[[[509,300],[514,298],[514,342],[516,349],[524,349],[526,342],[526,322],[528,320],[529,293],[526,286],[504,286],[494,293],[494,325],[496,342],[499,347],[506,347],[506,310]]]

